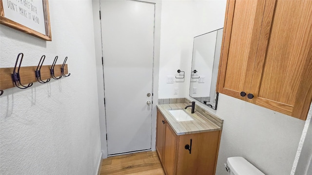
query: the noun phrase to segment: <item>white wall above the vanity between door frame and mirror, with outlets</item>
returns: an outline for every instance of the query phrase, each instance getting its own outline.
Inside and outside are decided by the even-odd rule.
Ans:
[[[225,6],[226,0],[162,1],[159,98],[189,96],[193,39],[223,27]],[[178,75],[178,69],[185,71],[184,82],[167,84],[167,75]]]

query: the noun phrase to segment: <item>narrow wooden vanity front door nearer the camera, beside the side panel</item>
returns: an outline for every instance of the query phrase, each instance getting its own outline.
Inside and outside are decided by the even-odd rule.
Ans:
[[[164,165],[167,175],[175,174],[176,165],[176,133],[166,124]]]

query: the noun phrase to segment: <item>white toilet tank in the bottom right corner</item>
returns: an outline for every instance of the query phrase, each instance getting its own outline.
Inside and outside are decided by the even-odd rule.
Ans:
[[[224,164],[228,175],[264,175],[243,157],[229,157]]]

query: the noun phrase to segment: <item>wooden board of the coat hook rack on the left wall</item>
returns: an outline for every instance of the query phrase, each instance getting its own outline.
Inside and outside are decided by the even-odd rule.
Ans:
[[[23,56],[23,53],[20,53],[18,55],[18,58],[20,58],[21,56]],[[42,58],[43,60],[43,58]],[[41,60],[41,61],[42,61]],[[17,59],[17,63],[18,63],[18,59]],[[16,63],[16,66],[18,66]],[[12,72],[17,73],[16,67],[12,67],[12,68],[0,68],[0,89],[3,91],[5,89],[8,88],[14,88],[16,87],[15,82],[13,81],[14,76],[18,77],[20,79],[20,82],[18,81],[18,83],[20,83],[21,85],[30,85],[31,83],[37,82],[37,78],[36,78],[36,73],[34,74],[34,72],[36,72],[36,70],[40,70],[40,78],[41,80],[47,80],[49,78],[51,78],[51,66],[42,66],[43,62],[39,62],[39,68],[38,66],[27,66],[27,67],[19,67],[17,70],[19,72],[19,76],[17,76],[17,74],[13,74]],[[20,60],[20,64],[21,64],[21,60]],[[61,67],[63,65],[56,65],[54,64],[54,76],[58,77],[60,75],[62,75],[61,73]],[[63,66],[63,70],[64,70],[64,74],[68,74],[68,69],[67,69],[67,64],[65,64]],[[13,76],[12,76],[13,75]],[[27,87],[27,86],[26,86]],[[23,88],[23,87],[20,87]]]

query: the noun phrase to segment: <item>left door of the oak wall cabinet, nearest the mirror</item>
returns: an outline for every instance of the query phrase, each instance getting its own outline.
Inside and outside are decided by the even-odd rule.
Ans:
[[[217,91],[242,100],[250,89],[264,0],[228,0]]]

